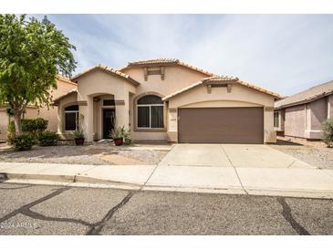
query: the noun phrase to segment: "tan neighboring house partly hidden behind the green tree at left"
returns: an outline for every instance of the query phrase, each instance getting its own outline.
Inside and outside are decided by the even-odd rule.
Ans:
[[[68,78],[57,76],[57,89],[51,92],[52,99],[68,93],[70,89],[77,89],[77,84]],[[7,115],[6,107],[0,108],[0,140],[7,139],[7,127],[10,118]],[[35,106],[28,106],[24,118],[43,118],[48,120],[47,130],[57,131],[57,107],[49,106],[37,109]]]

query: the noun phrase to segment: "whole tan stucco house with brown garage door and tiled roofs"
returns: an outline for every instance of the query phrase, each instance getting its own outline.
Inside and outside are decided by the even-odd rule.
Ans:
[[[99,65],[71,80],[78,89],[54,103],[63,139],[79,123],[86,141],[106,139],[116,122],[135,141],[276,141],[276,93],[178,59],[130,62],[120,70]]]

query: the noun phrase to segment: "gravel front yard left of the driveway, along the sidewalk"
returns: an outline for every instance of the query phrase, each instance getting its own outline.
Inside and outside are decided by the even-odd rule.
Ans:
[[[169,151],[133,149],[133,147],[115,148],[110,145],[74,145],[38,147],[31,151],[13,151],[8,146],[0,147],[0,161],[7,162],[36,162],[61,164],[91,164],[91,165],[154,165],[158,164]]]

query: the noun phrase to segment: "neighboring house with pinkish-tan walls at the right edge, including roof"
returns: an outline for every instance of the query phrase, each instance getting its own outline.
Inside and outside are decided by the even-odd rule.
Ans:
[[[333,81],[304,90],[275,103],[278,135],[320,139],[321,123],[333,117]]]

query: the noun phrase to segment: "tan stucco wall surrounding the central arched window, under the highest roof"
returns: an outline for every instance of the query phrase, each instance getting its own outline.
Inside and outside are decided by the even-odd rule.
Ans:
[[[159,69],[159,68],[156,68]],[[167,140],[167,127],[168,127],[168,112],[164,107],[164,131],[150,130],[150,131],[139,131],[136,129],[136,100],[141,96],[147,94],[153,94],[160,96],[161,98],[179,90],[183,89],[193,83],[207,78],[207,75],[193,71],[189,68],[184,67],[165,67],[164,79],[161,79],[161,75],[150,75],[147,81],[144,80],[143,68],[126,68],[123,70],[125,74],[130,75],[131,78],[136,79],[140,82],[140,86],[137,88],[136,94],[130,97],[130,130],[133,140],[155,140],[155,141],[166,141]]]

